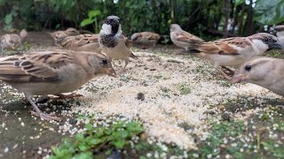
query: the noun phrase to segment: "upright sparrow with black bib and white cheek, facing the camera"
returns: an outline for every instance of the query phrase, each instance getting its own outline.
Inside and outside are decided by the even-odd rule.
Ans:
[[[122,34],[122,27],[119,18],[108,16],[99,31],[99,45],[102,52],[110,59],[122,59],[125,64],[122,72],[125,72],[126,65],[129,63],[129,57],[137,58],[130,51],[130,42]]]

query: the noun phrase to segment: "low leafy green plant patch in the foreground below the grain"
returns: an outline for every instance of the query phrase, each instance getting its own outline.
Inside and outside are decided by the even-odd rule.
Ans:
[[[136,121],[117,121],[109,127],[94,127],[86,124],[85,133],[78,133],[74,140],[66,139],[52,148],[50,159],[57,158],[93,158],[102,150],[123,149],[130,145],[132,137],[144,132],[142,125]]]

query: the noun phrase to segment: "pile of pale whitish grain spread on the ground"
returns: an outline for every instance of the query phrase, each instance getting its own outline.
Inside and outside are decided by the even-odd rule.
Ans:
[[[69,113],[100,112],[106,117],[138,119],[146,127],[149,142],[158,140],[195,149],[193,135],[206,139],[212,118],[209,111],[216,115],[217,105],[240,96],[257,98],[259,104],[264,97],[280,98],[256,85],[232,86],[217,79],[215,69],[196,57],[135,54],[139,59],[129,64],[127,73],[116,79],[95,79],[78,90],[83,97]]]

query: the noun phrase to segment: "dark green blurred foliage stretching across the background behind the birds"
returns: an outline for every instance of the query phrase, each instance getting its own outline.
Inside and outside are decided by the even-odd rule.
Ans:
[[[5,31],[75,27],[98,33],[108,15],[127,34],[170,33],[170,24],[209,40],[248,35],[284,22],[284,0],[0,0]]]

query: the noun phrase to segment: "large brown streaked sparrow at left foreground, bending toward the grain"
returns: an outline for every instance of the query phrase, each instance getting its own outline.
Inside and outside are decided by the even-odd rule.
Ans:
[[[0,58],[0,79],[23,92],[36,110],[32,114],[46,120],[59,117],[39,110],[32,101],[33,95],[72,92],[104,74],[115,76],[110,60],[100,53],[45,50]]]

